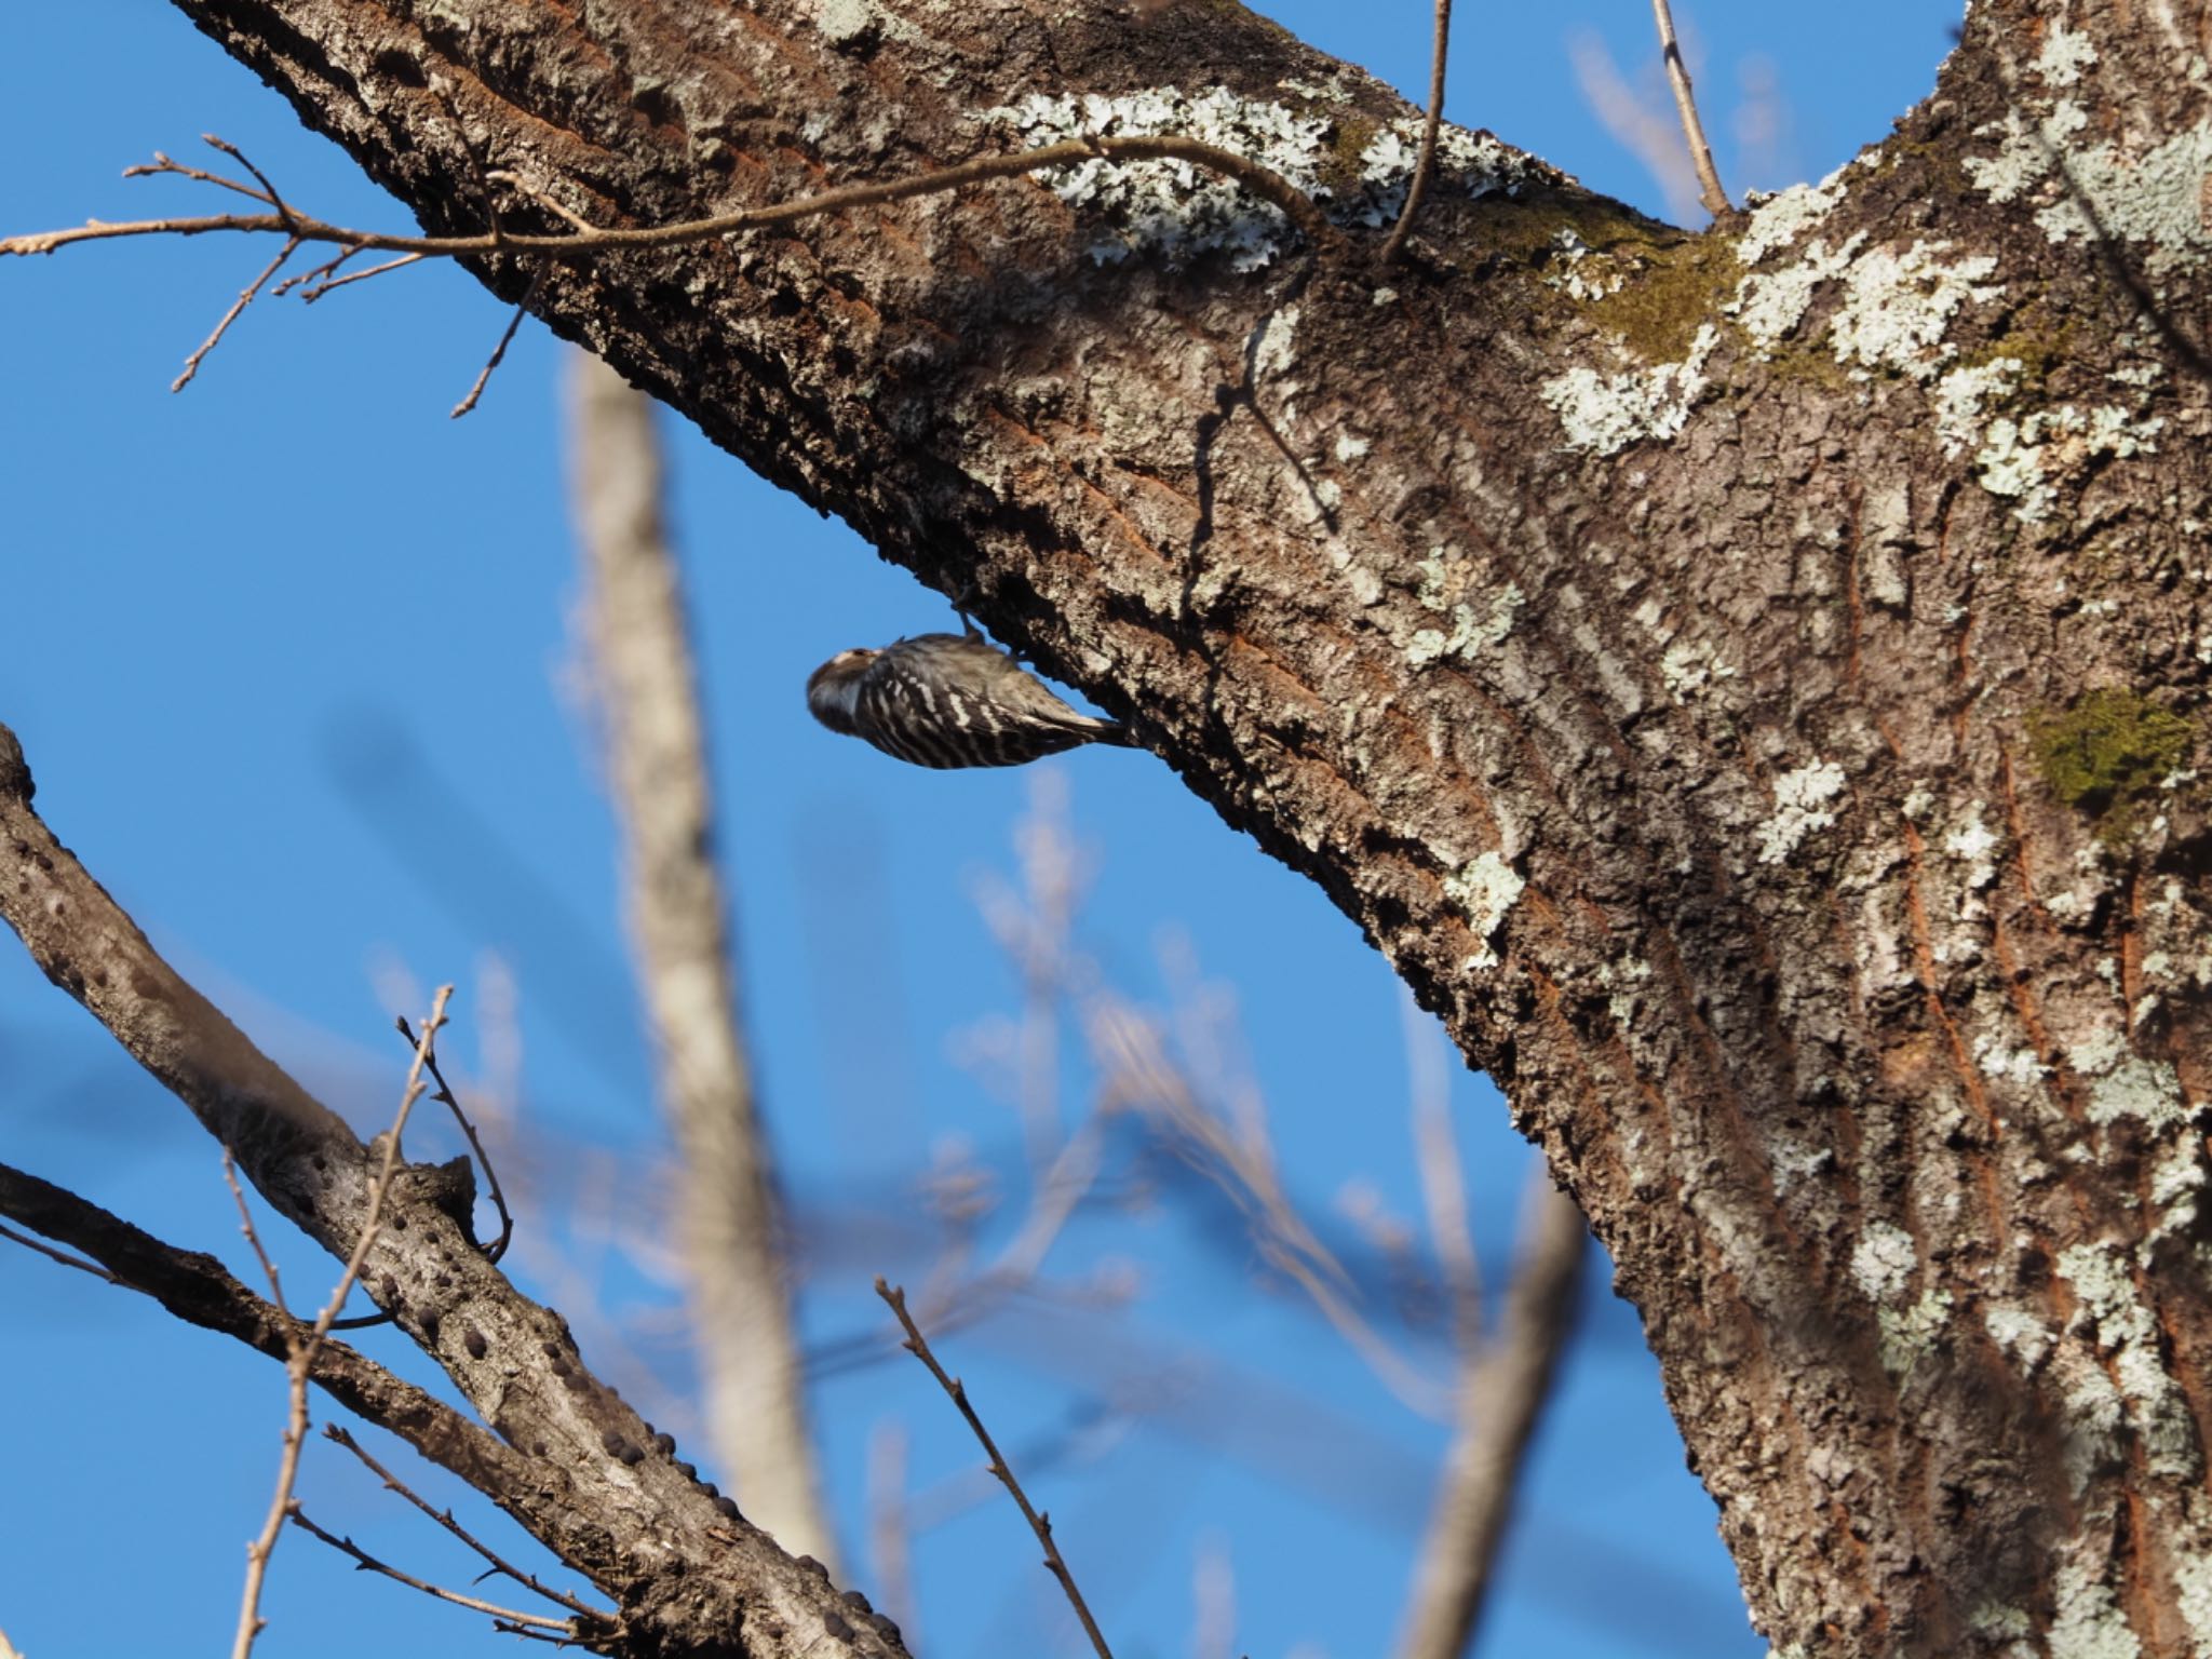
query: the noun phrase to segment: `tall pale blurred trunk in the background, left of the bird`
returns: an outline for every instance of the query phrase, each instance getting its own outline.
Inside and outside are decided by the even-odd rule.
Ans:
[[[637,973],[699,1343],[706,1429],[757,1526],[834,1562],[801,1394],[776,1181],[739,1026],[728,894],[714,867],[703,719],[675,555],[661,522],[653,400],[571,358],[571,478],[586,635],[606,714]]]

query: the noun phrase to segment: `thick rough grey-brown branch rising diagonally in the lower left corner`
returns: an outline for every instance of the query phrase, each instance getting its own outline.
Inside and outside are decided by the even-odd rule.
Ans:
[[[0,726],[0,916],[270,1203],[338,1259],[361,1245],[363,1287],[513,1449],[473,1467],[471,1482],[617,1601],[619,1635],[595,1635],[593,1646],[657,1657],[739,1646],[748,1659],[900,1652],[896,1630],[856,1613],[818,1566],[783,1555],[734,1504],[695,1484],[653,1427],[584,1369],[560,1316],[484,1261],[467,1230],[465,1164],[458,1181],[398,1170],[387,1223],[365,1239],[376,1183],[367,1148],[155,953],[31,796],[22,748]],[[31,1197],[55,1206],[51,1192]],[[88,1239],[64,1241],[100,1259]],[[104,1243],[117,1241],[133,1243],[108,1230]],[[279,1340],[290,1334],[279,1321]],[[321,1360],[314,1371],[332,1389]]]

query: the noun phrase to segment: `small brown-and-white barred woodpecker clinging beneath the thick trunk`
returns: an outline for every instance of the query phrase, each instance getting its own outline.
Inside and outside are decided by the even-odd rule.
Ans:
[[[841,650],[807,675],[807,708],[914,765],[1022,765],[1082,743],[1135,739],[1068,708],[982,635],[922,633],[883,650]]]

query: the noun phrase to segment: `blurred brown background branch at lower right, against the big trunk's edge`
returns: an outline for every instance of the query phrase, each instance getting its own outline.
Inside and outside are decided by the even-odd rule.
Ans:
[[[1542,1164],[1528,1177],[1522,1250],[1498,1338],[1462,1358],[1460,1420],[1444,1462],[1400,1659],[1458,1659],[1482,1613],[1513,1486],[1575,1327],[1584,1225]]]

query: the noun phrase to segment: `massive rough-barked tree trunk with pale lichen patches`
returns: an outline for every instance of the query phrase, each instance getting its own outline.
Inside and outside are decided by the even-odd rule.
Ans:
[[[533,307],[1360,922],[1613,1252],[1783,1652],[2212,1652],[2201,4],[1980,0],[1705,237],[1458,135],[1387,270],[1411,111],[1228,4],[179,4],[434,230],[1108,117],[1329,190],[1312,248],[1097,161]]]

